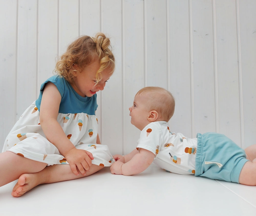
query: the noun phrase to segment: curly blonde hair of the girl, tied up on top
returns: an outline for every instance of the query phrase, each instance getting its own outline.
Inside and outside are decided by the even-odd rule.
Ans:
[[[96,72],[95,84],[97,84],[102,79],[101,72],[104,69],[110,68],[111,73],[115,69],[115,58],[110,39],[103,33],[97,33],[95,37],[83,35],[73,41],[57,61],[55,72],[68,82],[73,82],[72,72],[76,71],[74,65],[83,69],[94,61],[100,62],[100,68]]]

